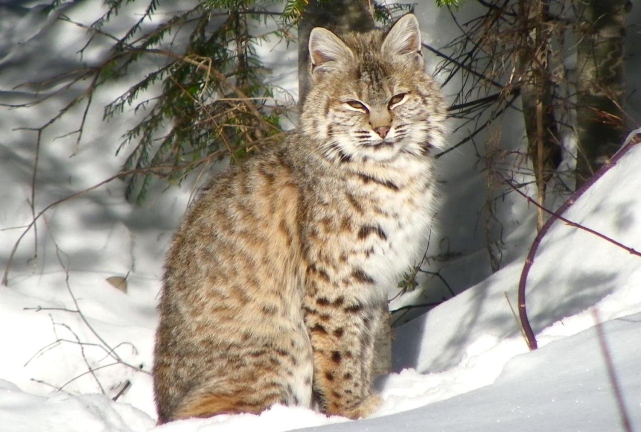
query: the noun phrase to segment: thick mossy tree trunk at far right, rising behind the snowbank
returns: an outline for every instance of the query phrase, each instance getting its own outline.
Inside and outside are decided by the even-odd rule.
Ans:
[[[576,80],[577,187],[619,150],[625,138],[623,42],[631,7],[629,0],[582,4]]]

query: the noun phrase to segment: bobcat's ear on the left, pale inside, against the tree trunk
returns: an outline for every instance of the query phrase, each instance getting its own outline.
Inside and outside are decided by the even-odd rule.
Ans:
[[[354,60],[352,50],[326,28],[312,29],[309,47],[312,74],[333,71],[338,65],[349,64]]]

